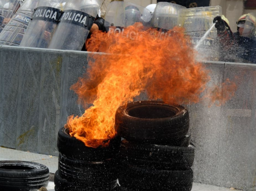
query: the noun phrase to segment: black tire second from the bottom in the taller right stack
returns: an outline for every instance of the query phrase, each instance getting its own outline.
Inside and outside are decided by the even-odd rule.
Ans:
[[[173,147],[155,144],[138,144],[123,140],[120,160],[133,166],[158,170],[186,170],[192,167],[195,150],[189,147]]]

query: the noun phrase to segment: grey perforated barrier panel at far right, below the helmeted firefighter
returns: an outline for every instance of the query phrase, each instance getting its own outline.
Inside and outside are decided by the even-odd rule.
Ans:
[[[217,185],[256,190],[256,67],[226,63],[226,78],[238,89],[222,107]]]

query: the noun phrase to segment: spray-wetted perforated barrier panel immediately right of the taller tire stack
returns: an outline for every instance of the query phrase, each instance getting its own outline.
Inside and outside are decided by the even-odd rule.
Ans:
[[[211,80],[207,84],[221,86],[224,74],[224,62],[205,63],[211,71]],[[221,107],[212,105],[205,100],[202,103],[187,105],[192,144],[195,147],[193,164],[194,181],[216,185],[218,178],[219,136],[222,120]]]

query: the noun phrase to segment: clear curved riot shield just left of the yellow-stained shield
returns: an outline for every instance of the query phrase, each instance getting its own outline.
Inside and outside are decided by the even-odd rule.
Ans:
[[[178,25],[178,11],[184,9],[181,5],[168,2],[158,2],[152,17],[151,27],[168,31]]]

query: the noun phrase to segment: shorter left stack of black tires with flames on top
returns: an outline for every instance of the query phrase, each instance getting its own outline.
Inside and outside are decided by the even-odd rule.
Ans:
[[[54,176],[55,191],[105,191],[116,188],[120,137],[111,139],[107,147],[86,147],[63,127],[58,132],[57,141],[59,161]]]

